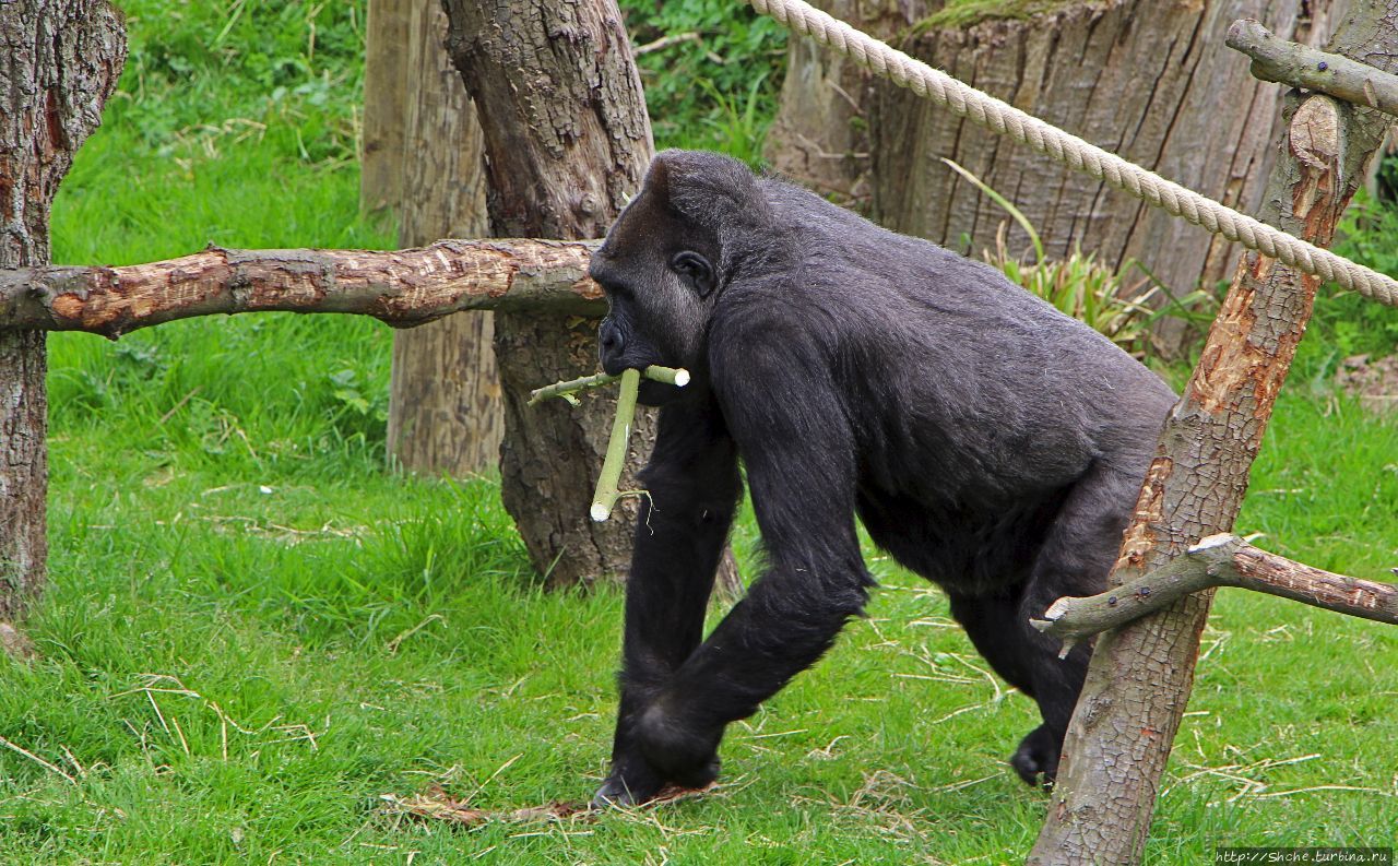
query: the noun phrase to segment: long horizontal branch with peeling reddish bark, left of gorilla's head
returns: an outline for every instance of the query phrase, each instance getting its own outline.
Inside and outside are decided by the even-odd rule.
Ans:
[[[0,331],[137,328],[211,316],[288,310],[359,313],[412,327],[457,310],[600,316],[587,277],[596,242],[439,240],[412,250],[222,250],[120,268],[0,271]]]

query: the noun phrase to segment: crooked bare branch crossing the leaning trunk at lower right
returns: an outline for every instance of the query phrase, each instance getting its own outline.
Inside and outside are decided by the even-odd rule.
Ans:
[[[1213,587],[1254,589],[1398,626],[1398,587],[1321,571],[1227,534],[1211,535],[1169,564],[1100,595],[1060,598],[1044,612],[1044,619],[1029,622],[1044,634],[1062,638],[1067,655],[1085,638]]]

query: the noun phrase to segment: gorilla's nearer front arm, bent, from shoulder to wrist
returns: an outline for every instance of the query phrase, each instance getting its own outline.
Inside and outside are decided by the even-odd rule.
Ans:
[[[777,348],[780,346],[780,348]],[[805,356],[802,356],[805,355]],[[716,370],[766,546],[768,570],[642,714],[636,736],[667,779],[705,781],[724,726],[812,665],[872,582],[854,529],[853,434],[828,370],[768,331]],[[724,370],[724,372],[727,372]]]

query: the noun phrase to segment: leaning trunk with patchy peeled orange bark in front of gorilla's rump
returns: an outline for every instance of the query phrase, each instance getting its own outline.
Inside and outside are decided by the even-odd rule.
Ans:
[[[1398,56],[1395,7],[1356,0],[1331,50],[1390,68]],[[1328,246],[1387,123],[1328,96],[1311,96],[1286,115],[1288,134],[1260,216]],[[1195,539],[1232,529],[1317,285],[1255,253],[1239,263],[1194,376],[1160,434],[1111,585],[1165,566]],[[1097,640],[1029,863],[1139,862],[1211,601],[1212,592],[1190,595]]]

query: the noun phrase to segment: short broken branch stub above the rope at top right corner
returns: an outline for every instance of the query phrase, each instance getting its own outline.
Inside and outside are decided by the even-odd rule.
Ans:
[[[1253,59],[1254,78],[1328,94],[1387,115],[1398,115],[1398,75],[1342,54],[1288,42],[1253,18],[1233,22],[1227,29],[1227,46]]]

